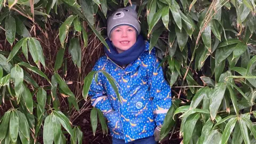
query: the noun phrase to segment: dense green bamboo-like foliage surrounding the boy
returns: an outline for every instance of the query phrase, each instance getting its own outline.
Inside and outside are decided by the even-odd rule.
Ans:
[[[89,72],[131,3],[172,86],[161,137],[256,143],[254,0],[0,0],[0,143],[110,143],[87,93],[98,73],[118,87]]]

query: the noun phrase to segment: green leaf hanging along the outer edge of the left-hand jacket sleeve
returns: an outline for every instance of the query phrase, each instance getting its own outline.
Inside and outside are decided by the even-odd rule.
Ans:
[[[85,78],[84,78],[84,86],[83,86],[83,97],[85,100],[87,100],[87,96],[89,93],[90,86],[92,84],[92,80],[94,77],[94,74],[97,73],[97,71],[91,71]]]

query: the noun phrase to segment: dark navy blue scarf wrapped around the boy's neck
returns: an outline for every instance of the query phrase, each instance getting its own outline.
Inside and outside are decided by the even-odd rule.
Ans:
[[[145,41],[141,35],[138,36],[136,43],[130,49],[122,53],[117,52],[115,46],[109,39],[107,39],[106,42],[109,46],[110,52],[106,46],[104,46],[104,51],[108,57],[119,66],[126,66],[132,63],[133,61],[137,60],[146,50]]]

